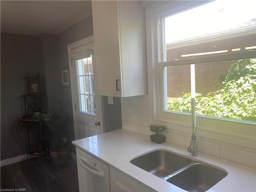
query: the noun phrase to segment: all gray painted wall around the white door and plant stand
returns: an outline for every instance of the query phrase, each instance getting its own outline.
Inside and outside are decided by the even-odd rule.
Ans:
[[[46,81],[48,111],[65,113],[71,121],[69,138],[74,140],[71,89],[62,86],[61,71],[69,69],[67,46],[90,35],[92,15],[57,35],[1,35],[1,160],[26,153],[14,139],[16,119],[22,116],[20,95],[26,72],[41,71],[42,80]],[[114,98],[114,105],[109,105],[103,97],[102,113],[106,132],[121,129],[120,98]],[[56,146],[52,140],[51,150],[55,151]],[[75,152],[73,146],[72,151]]]

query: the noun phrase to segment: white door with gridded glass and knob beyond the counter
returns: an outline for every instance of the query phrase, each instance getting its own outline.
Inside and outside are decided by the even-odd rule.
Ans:
[[[83,45],[82,49],[71,58],[75,139],[103,133],[101,98],[95,82],[93,42]]]

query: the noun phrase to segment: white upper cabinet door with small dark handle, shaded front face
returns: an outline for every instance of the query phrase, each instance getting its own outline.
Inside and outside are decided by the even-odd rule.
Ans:
[[[117,1],[92,1],[99,95],[121,97],[120,28]]]

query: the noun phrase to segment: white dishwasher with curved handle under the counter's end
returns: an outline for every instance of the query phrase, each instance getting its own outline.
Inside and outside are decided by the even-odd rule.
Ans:
[[[79,192],[110,192],[109,166],[76,147]]]

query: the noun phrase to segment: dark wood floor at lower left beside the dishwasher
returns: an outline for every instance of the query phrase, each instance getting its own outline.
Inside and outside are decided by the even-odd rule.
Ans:
[[[26,191],[78,191],[76,161],[61,161],[46,156],[28,159],[1,167],[1,189],[25,188]],[[2,191],[1,190],[1,191]]]

